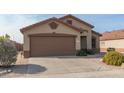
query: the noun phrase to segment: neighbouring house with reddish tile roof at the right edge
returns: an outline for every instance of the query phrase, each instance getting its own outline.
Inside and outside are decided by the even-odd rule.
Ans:
[[[106,52],[107,48],[115,48],[118,52],[124,52],[124,30],[114,30],[105,32],[100,37],[101,52]]]

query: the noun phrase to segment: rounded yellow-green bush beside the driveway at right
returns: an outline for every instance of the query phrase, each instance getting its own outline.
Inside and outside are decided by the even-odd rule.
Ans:
[[[108,52],[104,55],[103,62],[108,65],[120,66],[123,62],[123,55],[116,51]]]

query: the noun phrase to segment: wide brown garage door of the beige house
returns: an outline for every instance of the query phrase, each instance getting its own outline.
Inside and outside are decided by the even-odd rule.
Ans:
[[[32,57],[75,55],[74,36],[31,36],[30,41]]]

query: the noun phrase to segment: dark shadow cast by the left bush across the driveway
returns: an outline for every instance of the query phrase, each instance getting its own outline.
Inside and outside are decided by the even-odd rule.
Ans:
[[[9,73],[16,73],[16,74],[37,74],[40,72],[46,71],[47,68],[41,65],[36,64],[21,64],[21,65],[14,65],[12,67],[3,68],[0,67],[0,74],[6,75]]]

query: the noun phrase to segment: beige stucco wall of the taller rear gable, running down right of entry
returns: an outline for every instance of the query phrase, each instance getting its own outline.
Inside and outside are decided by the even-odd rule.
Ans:
[[[64,22],[67,22],[67,20],[72,20],[72,25],[77,27],[77,28],[82,28],[82,29],[85,29],[87,30],[87,49],[92,49],[92,28],[85,25],[85,24],[82,24],[80,23],[79,21],[77,20],[74,20],[72,18],[66,18],[66,19],[63,19]],[[85,32],[82,34],[82,36],[85,34]]]

